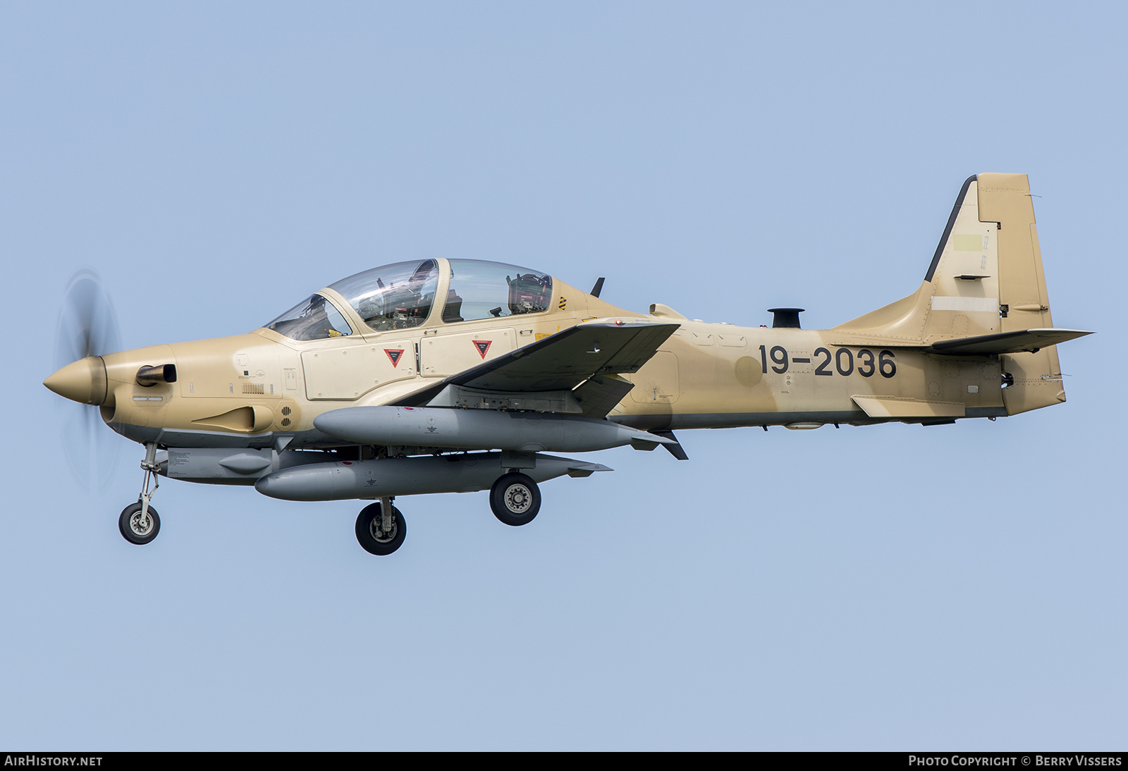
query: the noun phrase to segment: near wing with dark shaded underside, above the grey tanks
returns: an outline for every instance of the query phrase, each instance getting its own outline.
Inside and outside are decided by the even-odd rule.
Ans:
[[[600,390],[603,398],[599,401],[606,402],[614,398],[607,407],[609,410],[631,390],[631,383],[614,375],[637,372],[678,326],[638,321],[580,324],[450,375],[399,399],[393,406],[421,407],[448,386],[506,393],[537,393],[571,391],[584,383],[589,392],[596,388]],[[614,397],[615,393],[619,395],[618,398]],[[584,409],[584,414],[591,413]],[[606,414],[605,410],[603,415]]]

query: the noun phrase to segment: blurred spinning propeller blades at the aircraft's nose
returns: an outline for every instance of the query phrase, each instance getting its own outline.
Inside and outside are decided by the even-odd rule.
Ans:
[[[87,356],[120,349],[117,317],[98,274],[77,271],[67,284],[55,333],[55,367]],[[98,407],[68,401],[63,410],[63,454],[78,481],[88,490],[105,491],[117,471],[121,445],[102,424]]]

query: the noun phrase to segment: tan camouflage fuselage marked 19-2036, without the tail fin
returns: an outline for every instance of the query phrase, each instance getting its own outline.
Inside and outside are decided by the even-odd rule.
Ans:
[[[522,340],[594,318],[587,316],[591,305],[614,310],[558,282],[556,286],[579,312],[549,311],[515,325],[422,326],[302,343],[259,329],[111,354],[103,357],[109,398],[102,415],[131,438],[175,446],[271,446],[280,435],[293,437],[292,449],[338,444],[314,429],[315,417],[345,406],[390,404],[435,379],[506,355]],[[627,312],[603,318],[641,320]],[[485,356],[475,342],[490,344]],[[832,330],[680,320],[650,362],[622,375],[634,388],[609,417],[661,429],[1007,414],[997,356],[937,356],[843,343]],[[389,351],[400,352],[397,362]],[[177,382],[135,382],[139,367],[166,362],[176,364]],[[888,414],[867,414],[858,397],[884,404]]]

